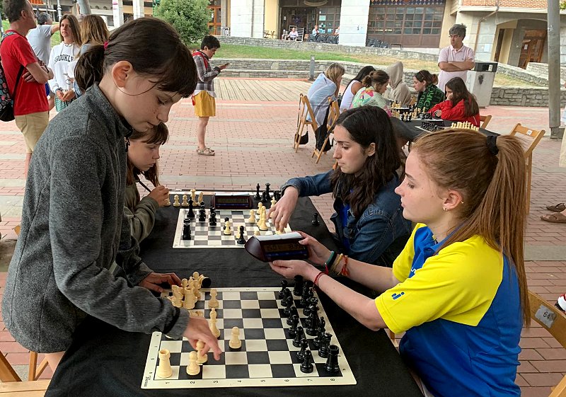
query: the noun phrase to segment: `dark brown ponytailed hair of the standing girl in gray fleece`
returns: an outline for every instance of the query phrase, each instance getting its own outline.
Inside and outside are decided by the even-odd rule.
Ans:
[[[162,91],[190,96],[197,86],[197,68],[178,33],[158,18],[138,18],[112,30],[106,48],[93,45],[79,57],[75,78],[81,90],[100,83],[112,65],[120,61],[149,76]]]

